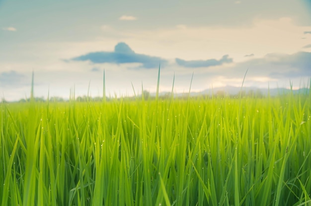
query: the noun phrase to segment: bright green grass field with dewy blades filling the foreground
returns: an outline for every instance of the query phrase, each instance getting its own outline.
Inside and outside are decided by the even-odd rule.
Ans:
[[[311,204],[310,92],[2,103],[0,115],[1,206]]]

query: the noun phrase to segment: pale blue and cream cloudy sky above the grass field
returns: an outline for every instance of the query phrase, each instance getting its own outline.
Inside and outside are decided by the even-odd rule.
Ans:
[[[223,86],[307,87],[311,0],[0,0],[0,92],[15,101]],[[134,90],[133,90],[134,88]]]

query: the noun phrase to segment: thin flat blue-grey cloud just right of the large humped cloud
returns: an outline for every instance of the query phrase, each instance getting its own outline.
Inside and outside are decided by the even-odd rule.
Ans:
[[[224,63],[232,63],[233,59],[228,58],[229,55],[223,56],[222,59],[216,60],[216,59],[210,59],[210,60],[192,60],[192,61],[185,61],[182,59],[176,58],[176,63],[179,66],[182,67],[188,67],[188,68],[198,68],[198,67],[212,67],[212,66],[219,66],[223,65]]]

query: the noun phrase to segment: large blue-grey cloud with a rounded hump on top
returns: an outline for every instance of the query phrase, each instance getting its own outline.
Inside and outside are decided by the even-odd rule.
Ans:
[[[143,54],[136,54],[127,44],[120,42],[114,52],[92,52],[72,59],[74,61],[91,61],[92,63],[141,63],[143,68],[157,68],[161,63],[164,66],[167,61],[159,57],[152,57]]]

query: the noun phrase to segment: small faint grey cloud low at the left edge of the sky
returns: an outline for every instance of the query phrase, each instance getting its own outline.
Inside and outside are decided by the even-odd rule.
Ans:
[[[1,72],[0,73],[0,86],[1,87],[15,87],[17,85],[23,85],[24,84],[24,75],[17,73],[14,70],[7,71],[7,72]]]

